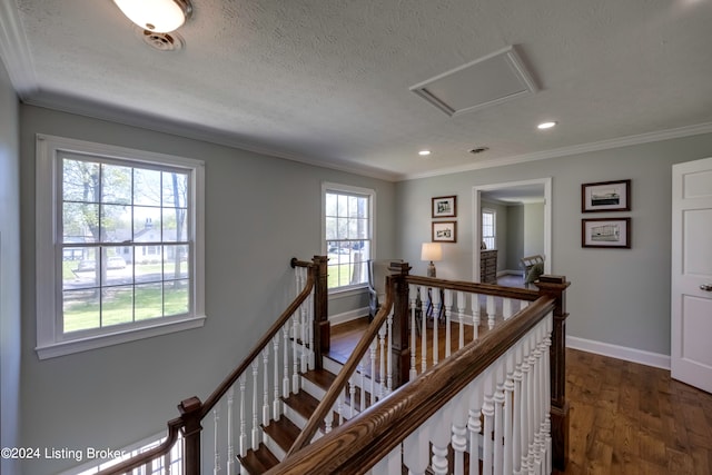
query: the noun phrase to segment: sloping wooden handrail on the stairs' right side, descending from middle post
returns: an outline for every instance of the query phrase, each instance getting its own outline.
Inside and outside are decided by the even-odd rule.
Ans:
[[[336,376],[336,379],[334,380],[334,383],[332,383],[329,390],[326,393],[326,395],[324,395],[324,397],[319,402],[319,405],[316,407],[316,410],[314,412],[314,414],[312,414],[312,417],[309,418],[305,427],[301,429],[301,433],[291,445],[291,448],[289,448],[289,452],[286,455],[287,457],[289,457],[291,454],[296,453],[297,451],[304,448],[312,442],[312,438],[314,437],[314,434],[316,434],[316,432],[318,431],[322,424],[322,420],[324,420],[326,415],[334,407],[334,403],[336,403],[336,399],[338,398],[339,394],[342,394],[342,390],[346,386],[346,383],[348,383],[348,379],[352,377],[352,374],[358,367],[358,364],[360,363],[362,358],[370,347],[370,343],[376,337],[376,335],[378,335],[378,330],[380,329],[382,325],[386,321],[386,318],[390,313],[390,308],[393,307],[392,279],[393,279],[393,276],[386,276],[386,301],[383,303],[383,305],[380,306],[380,309],[378,309],[378,311],[374,316],[373,321],[370,323],[370,325],[368,325],[368,328],[366,328],[366,331],[364,331],[364,334],[362,335],[360,340],[358,340],[358,344],[352,352],[352,355],[348,357],[348,360],[346,362],[342,370]],[[375,374],[372,375],[372,377],[375,377]]]

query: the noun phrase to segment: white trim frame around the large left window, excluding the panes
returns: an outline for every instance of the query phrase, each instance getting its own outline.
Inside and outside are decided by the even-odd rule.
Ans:
[[[140,327],[117,326],[116,331],[83,338],[61,340],[58,338],[57,293],[61,291],[61,268],[57,268],[56,253],[61,253],[61,243],[56,243],[57,202],[57,151],[90,154],[98,157],[129,158],[137,164],[164,164],[191,170],[195,222],[192,232],[194,314],[180,317],[164,317]],[[135,150],[83,140],[37,135],[36,150],[36,291],[37,291],[37,354],[40,359],[118,345],[158,335],[198,328],[205,324],[205,164],[185,157]],[[51,264],[50,264],[51,263]]]

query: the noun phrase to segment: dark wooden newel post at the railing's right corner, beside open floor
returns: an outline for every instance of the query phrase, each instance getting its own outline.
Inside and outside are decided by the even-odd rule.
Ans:
[[[564,472],[568,462],[568,403],[566,402],[566,287],[571,283],[564,276],[541,276],[534,283],[542,296],[556,300],[551,346],[552,388],[552,463]]]

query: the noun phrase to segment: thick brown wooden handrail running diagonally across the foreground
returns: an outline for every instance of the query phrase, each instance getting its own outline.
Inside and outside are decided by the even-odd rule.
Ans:
[[[365,473],[555,307],[542,296],[522,313],[402,386],[389,397],[288,456],[266,475]]]

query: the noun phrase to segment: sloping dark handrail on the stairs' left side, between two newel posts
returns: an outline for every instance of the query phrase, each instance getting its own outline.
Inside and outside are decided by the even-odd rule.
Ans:
[[[259,356],[263,349],[265,349],[265,346],[267,346],[271,342],[271,339],[275,337],[277,331],[281,329],[281,327],[285,325],[285,323],[287,323],[287,320],[291,317],[291,315],[294,315],[294,313],[297,311],[297,309],[304,303],[304,300],[307,299],[307,297],[309,296],[309,293],[312,293],[312,288],[314,288],[314,283],[315,283],[314,271],[313,271],[314,265],[312,263],[306,263],[306,265],[300,265],[299,263],[300,261],[298,260],[291,259],[293,267],[300,266],[300,267],[309,268],[309,273],[307,275],[307,283],[304,286],[304,289],[294,299],[294,301],[287,307],[287,309],[281,313],[279,318],[277,318],[277,321],[275,321],[271,325],[271,327],[269,327],[267,333],[263,335],[259,342],[257,342],[257,345],[253,347],[253,350],[245,357],[245,359],[243,359],[243,363],[237,368],[235,368],[235,370],[230,373],[222,380],[222,383],[220,383],[220,385],[212,392],[212,394],[208,396],[205,403],[202,403],[200,418],[205,417],[206,414],[212,410],[212,407],[215,407],[218,400],[220,400],[220,398],[225,396],[225,394],[228,392],[230,386],[233,386],[237,382],[237,379],[240,377],[240,375],[249,367],[249,365],[253,363],[253,359]]]

